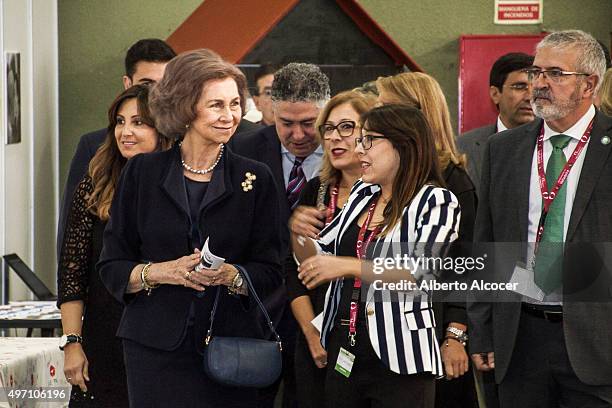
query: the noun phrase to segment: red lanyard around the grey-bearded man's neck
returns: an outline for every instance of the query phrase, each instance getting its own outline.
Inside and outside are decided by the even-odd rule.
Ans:
[[[542,236],[544,235],[544,224],[546,222],[546,215],[548,214],[550,205],[555,200],[555,197],[557,196],[557,193],[559,192],[561,187],[563,187],[563,184],[565,183],[565,180],[567,180],[567,177],[569,176],[569,173],[572,170],[572,167],[576,163],[576,160],[578,160],[578,156],[580,156],[580,153],[582,152],[587,142],[589,141],[589,138],[591,137],[592,128],[593,128],[593,120],[591,120],[591,123],[589,123],[589,126],[587,126],[587,129],[582,135],[582,137],[580,138],[578,145],[574,148],[574,151],[572,152],[572,155],[570,156],[567,163],[565,163],[563,170],[561,170],[561,173],[559,174],[559,177],[557,178],[555,185],[553,186],[552,190],[549,192],[548,186],[546,183],[546,172],[544,171],[544,125],[542,125],[542,131],[540,132],[540,136],[538,136],[538,147],[537,148],[538,148],[538,177],[540,179],[540,193],[542,194],[542,200],[544,201],[544,205],[542,208],[542,215],[540,216],[540,222],[538,223],[538,232],[536,234],[536,245],[542,240]],[[536,246],[536,251],[537,251],[537,246]]]

